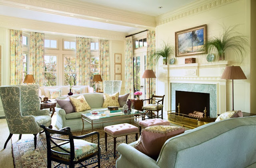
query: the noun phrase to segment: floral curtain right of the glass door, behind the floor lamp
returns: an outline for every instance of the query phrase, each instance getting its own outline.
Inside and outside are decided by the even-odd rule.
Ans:
[[[156,49],[156,33],[153,30],[147,31],[147,59],[146,59],[146,70],[153,70],[156,73],[155,59],[149,59],[150,55]],[[150,88],[149,88],[150,82]],[[150,92],[149,92],[150,91]],[[150,93],[150,95],[149,95]],[[152,94],[156,93],[156,78],[146,79],[146,95],[147,98],[151,98]]]

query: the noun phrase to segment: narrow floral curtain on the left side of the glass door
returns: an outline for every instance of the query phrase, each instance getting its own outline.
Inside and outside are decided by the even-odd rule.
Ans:
[[[132,36],[126,37],[125,49],[125,93],[130,93],[129,98],[133,96],[133,48]]]

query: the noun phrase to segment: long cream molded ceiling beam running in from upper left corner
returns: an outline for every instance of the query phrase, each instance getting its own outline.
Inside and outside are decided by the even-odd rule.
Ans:
[[[153,29],[154,16],[119,10],[78,0],[0,0],[0,4],[86,20]]]

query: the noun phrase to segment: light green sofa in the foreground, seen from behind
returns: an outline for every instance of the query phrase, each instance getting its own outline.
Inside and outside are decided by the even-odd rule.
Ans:
[[[185,131],[164,143],[157,160],[136,150],[135,143],[118,146],[116,168],[255,168],[256,116]]]

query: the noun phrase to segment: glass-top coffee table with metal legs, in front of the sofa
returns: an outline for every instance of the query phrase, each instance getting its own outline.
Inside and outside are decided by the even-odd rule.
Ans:
[[[130,121],[131,121],[131,119],[140,118],[140,117],[144,118],[145,117],[145,112],[138,111],[136,109],[132,109],[132,110],[128,111],[127,113],[124,113],[124,110],[121,109],[122,114],[114,115],[114,116],[107,115],[107,114],[102,115],[102,114],[104,114],[104,111],[99,111],[98,114],[92,114],[92,113],[83,113],[82,114],[82,121],[83,121],[82,134],[83,134],[83,131],[84,131],[84,121],[87,121],[88,123],[90,123],[92,125],[92,131],[93,131],[93,125],[94,124],[107,123],[107,122],[120,121],[120,120],[127,120],[127,119],[130,119]],[[124,116],[129,116],[129,117],[124,117]]]

